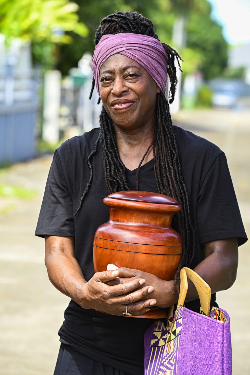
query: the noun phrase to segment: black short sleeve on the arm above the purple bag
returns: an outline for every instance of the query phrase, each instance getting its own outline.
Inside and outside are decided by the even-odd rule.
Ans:
[[[247,241],[226,156],[220,153],[201,183],[197,202],[199,241],[238,237]]]

